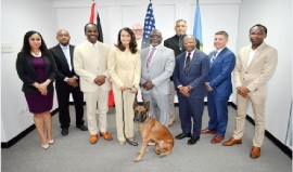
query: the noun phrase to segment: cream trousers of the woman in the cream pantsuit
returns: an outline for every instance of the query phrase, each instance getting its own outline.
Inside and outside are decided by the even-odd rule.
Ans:
[[[125,135],[126,137],[133,137],[133,102],[136,94],[130,93],[129,91],[123,92],[118,89],[113,89],[115,97],[115,108],[116,108],[116,128],[117,128],[117,137],[118,141],[125,141],[124,137],[124,122],[123,122],[123,109],[124,109],[124,121],[125,121]],[[124,104],[124,108],[123,108]]]

